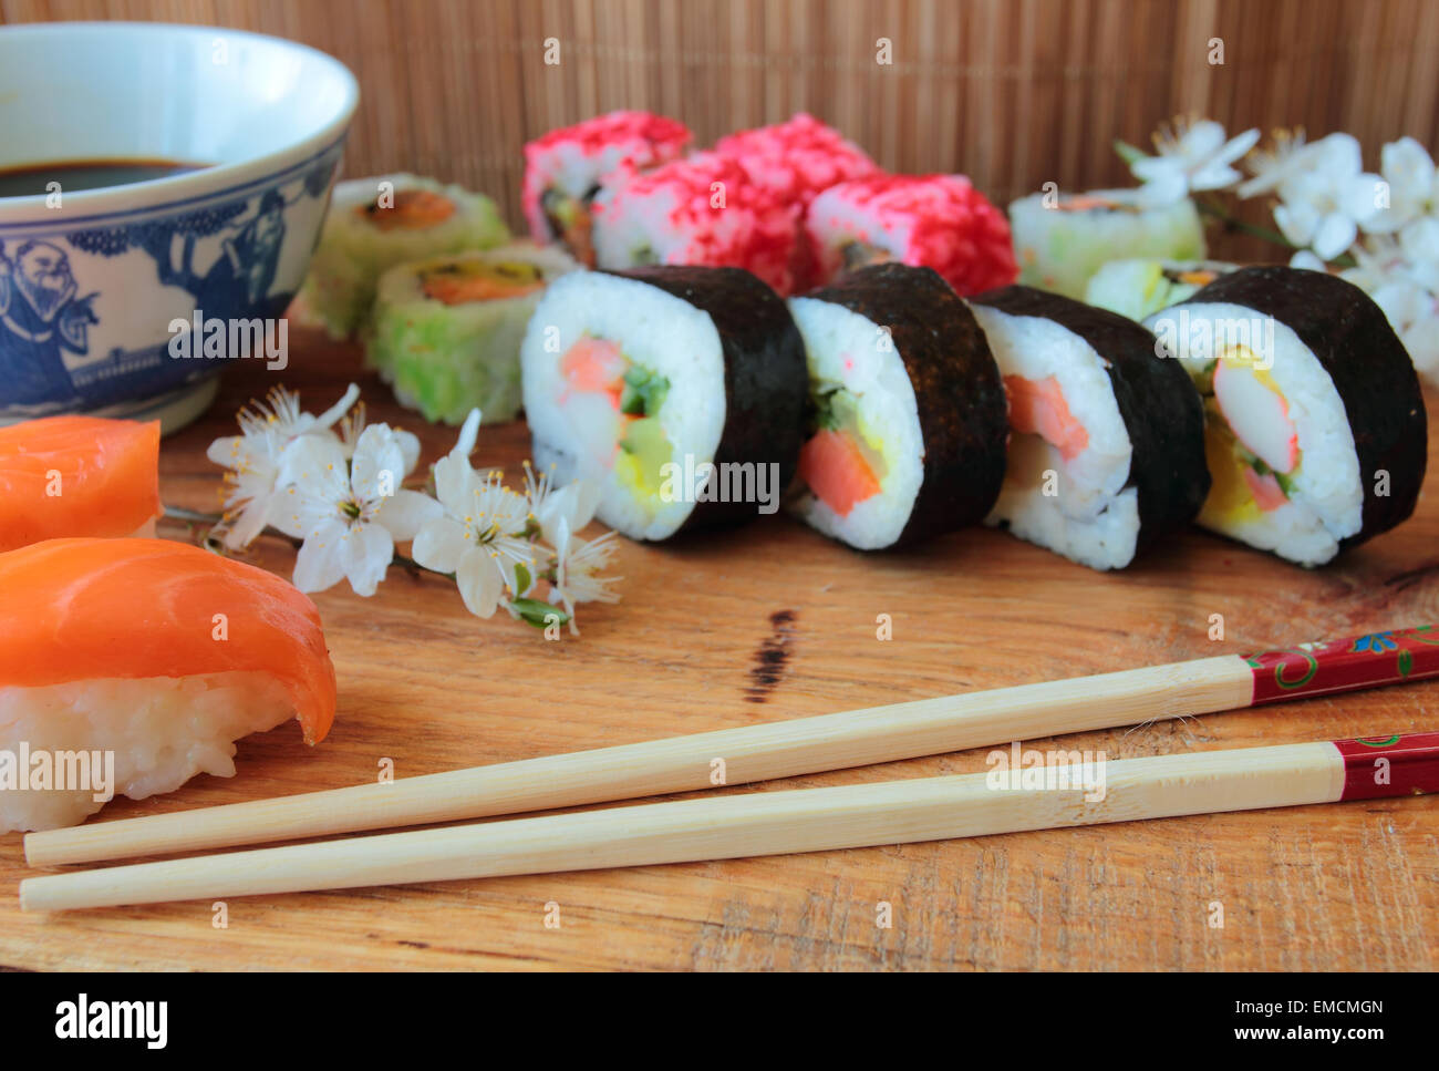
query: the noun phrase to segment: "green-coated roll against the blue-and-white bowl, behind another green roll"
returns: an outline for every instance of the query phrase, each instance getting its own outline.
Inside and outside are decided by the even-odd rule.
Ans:
[[[334,338],[370,315],[380,275],[397,263],[509,238],[495,203],[459,186],[413,174],[384,174],[335,186],[301,299]]]

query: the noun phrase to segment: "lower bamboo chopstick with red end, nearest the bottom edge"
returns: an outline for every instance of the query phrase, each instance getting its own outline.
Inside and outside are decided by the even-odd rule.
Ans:
[[[27,878],[20,905],[59,911],[732,859],[1435,792],[1439,733],[1089,762],[1069,783],[996,787],[993,773],[971,773],[360,836]]]

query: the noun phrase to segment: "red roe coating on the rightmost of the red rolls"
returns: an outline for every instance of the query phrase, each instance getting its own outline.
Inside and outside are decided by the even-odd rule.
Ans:
[[[1019,278],[1009,220],[961,174],[889,174],[840,183],[819,204],[820,217],[837,229],[832,199],[861,209],[889,235],[908,225],[908,240],[896,259],[932,268],[961,297]],[[810,220],[816,243],[823,238],[814,233],[817,222]]]

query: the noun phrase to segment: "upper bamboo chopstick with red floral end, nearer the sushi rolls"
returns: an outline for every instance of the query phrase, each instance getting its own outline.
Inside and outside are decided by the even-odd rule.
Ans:
[[[30,833],[35,867],[602,803],[1439,675],[1430,625]]]

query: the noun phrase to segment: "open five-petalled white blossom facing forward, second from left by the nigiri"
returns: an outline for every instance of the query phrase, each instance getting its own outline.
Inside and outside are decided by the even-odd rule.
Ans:
[[[396,540],[413,538],[440,511],[429,495],[400,487],[404,451],[389,425],[366,428],[348,459],[337,438],[301,438],[286,468],[294,474],[285,489],[291,523],[305,540],[294,574],[301,592],[348,579],[355,595],[374,595]]]

